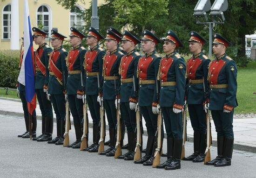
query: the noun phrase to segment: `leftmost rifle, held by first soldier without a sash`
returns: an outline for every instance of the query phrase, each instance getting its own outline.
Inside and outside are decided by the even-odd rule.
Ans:
[[[66,78],[65,78],[65,71],[63,71],[64,77],[63,77],[63,84],[64,84],[64,89],[67,90],[66,88]],[[70,130],[70,114],[69,114],[69,104],[67,100],[67,93],[66,93],[66,116],[65,116],[65,133],[64,133],[64,141],[63,141],[63,146],[66,147],[69,145],[69,135],[68,132]]]

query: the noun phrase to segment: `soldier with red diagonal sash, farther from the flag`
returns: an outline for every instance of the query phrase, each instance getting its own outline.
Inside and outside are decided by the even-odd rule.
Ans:
[[[67,51],[63,48],[62,43],[64,38],[61,33],[52,30],[51,45],[54,51],[51,52],[49,57],[49,83],[47,98],[53,103],[54,112],[56,114],[57,122],[57,137],[48,141],[50,144],[63,145],[65,133],[65,89],[63,81],[66,81],[67,65],[66,57]],[[65,77],[65,80],[63,78]]]

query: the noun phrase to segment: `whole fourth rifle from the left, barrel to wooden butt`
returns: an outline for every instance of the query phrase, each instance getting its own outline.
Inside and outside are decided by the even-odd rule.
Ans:
[[[115,75],[114,75],[115,78]],[[115,85],[115,80],[114,80],[114,85]],[[115,95],[118,95],[116,85],[115,85]],[[116,144],[115,144],[115,158],[118,158],[122,154],[120,142],[122,138],[122,133],[121,133],[121,112],[120,112],[120,104],[118,103],[117,99],[117,109],[116,109],[116,117],[117,117],[117,125],[116,125]]]

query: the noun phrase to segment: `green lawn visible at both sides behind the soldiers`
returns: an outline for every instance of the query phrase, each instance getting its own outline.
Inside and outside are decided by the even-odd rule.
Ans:
[[[256,113],[256,62],[250,62],[246,68],[238,68],[237,102],[235,113]],[[18,98],[16,91],[0,89],[1,97]]]

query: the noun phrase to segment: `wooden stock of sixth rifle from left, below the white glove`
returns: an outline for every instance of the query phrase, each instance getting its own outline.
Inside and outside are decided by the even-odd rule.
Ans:
[[[162,109],[160,109],[160,112],[157,117],[157,148],[155,149],[155,155],[154,155],[152,167],[156,167],[157,165],[160,165],[160,149],[162,145],[161,142],[162,142]]]

